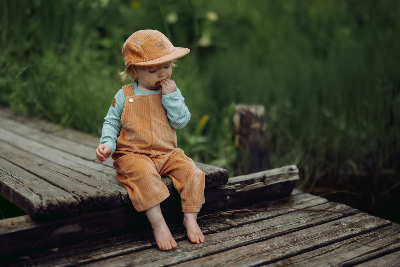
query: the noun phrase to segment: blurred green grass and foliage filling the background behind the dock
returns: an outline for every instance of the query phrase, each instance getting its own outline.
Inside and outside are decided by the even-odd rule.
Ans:
[[[178,144],[233,170],[234,103],[266,108],[272,167],[301,183],[399,178],[400,1],[3,0],[0,104],[100,135],[122,44],[164,32],[192,120]]]

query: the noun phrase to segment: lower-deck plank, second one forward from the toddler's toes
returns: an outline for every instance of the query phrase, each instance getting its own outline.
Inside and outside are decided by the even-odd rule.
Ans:
[[[282,223],[283,221],[281,221]],[[390,221],[373,216],[354,215],[292,232],[266,241],[240,246],[176,266],[260,266],[294,257],[344,239],[350,239],[389,226]],[[257,235],[257,233],[253,233]],[[246,238],[246,236],[242,237]],[[229,242],[230,243],[230,242]],[[205,245],[204,245],[205,246]],[[102,266],[102,265],[97,265]],[[103,265],[104,266],[104,265]],[[147,265],[157,266],[157,265]],[[160,265],[158,265],[160,266]]]

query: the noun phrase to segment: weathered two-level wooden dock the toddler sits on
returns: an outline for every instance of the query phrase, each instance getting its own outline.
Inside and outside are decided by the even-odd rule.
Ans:
[[[27,215],[0,220],[1,266],[399,266],[400,225],[293,190],[286,166],[207,176],[190,243],[179,197],[162,209],[178,247],[159,251],[143,213],[129,203],[98,138],[0,108],[0,194]],[[2,207],[0,207],[1,210]],[[1,219],[1,218],[0,218]]]

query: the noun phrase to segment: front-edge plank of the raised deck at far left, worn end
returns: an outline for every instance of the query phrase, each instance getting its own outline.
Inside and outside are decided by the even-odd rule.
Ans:
[[[0,194],[34,218],[76,214],[74,196],[0,158]]]

